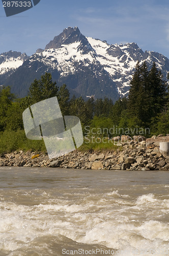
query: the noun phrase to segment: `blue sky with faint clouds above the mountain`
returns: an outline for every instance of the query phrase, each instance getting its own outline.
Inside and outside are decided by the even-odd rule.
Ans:
[[[41,0],[34,8],[6,17],[0,3],[0,53],[31,55],[44,49],[66,27],[109,44],[136,42],[169,58],[169,1],[162,0]]]

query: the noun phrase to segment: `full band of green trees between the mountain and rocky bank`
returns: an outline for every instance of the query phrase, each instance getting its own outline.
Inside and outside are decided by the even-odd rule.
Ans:
[[[169,73],[167,75],[169,80]],[[150,128],[153,134],[169,134],[169,94],[167,80],[153,63],[148,70],[146,61],[137,62],[135,72],[130,81],[128,97],[119,98],[115,103],[111,99],[94,99],[85,101],[82,97],[70,98],[66,84],[60,88],[52,81],[51,74],[45,73],[39,80],[31,84],[26,97],[16,99],[10,87],[0,90],[0,137],[5,131],[23,131],[23,111],[41,100],[57,96],[61,112],[80,118],[83,133],[85,126],[112,126],[124,128]],[[117,131],[119,131],[117,129]],[[135,134],[132,135],[136,135]],[[121,135],[115,131],[114,136]],[[106,134],[106,136],[110,136]]]

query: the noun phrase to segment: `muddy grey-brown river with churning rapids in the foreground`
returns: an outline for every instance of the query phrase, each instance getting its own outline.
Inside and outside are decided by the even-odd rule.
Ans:
[[[0,256],[169,255],[169,172],[0,167]]]

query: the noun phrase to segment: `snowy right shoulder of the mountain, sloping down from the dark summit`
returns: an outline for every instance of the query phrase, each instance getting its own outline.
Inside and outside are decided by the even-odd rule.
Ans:
[[[151,66],[153,61],[155,61],[157,68],[164,71],[164,76],[167,73],[166,71],[169,70],[169,60],[165,56],[150,51],[144,53],[134,42],[126,45],[108,45],[106,41],[92,37],[87,37],[87,39],[97,53],[96,59],[117,84],[120,96],[125,96],[129,92],[130,80],[137,60],[140,63],[146,60],[148,66]],[[166,67],[163,69],[163,66]]]

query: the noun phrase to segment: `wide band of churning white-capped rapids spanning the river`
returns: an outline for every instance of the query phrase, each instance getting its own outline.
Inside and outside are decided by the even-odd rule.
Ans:
[[[76,198],[71,192],[59,198],[49,190],[23,190],[20,193],[27,197],[40,194],[43,203],[0,202],[0,250],[19,250],[44,236],[104,245],[119,250],[117,255],[125,255],[122,250],[130,250],[126,255],[135,255],[134,250],[137,255],[152,255],[140,252],[145,248],[168,249],[169,227],[159,219],[168,216],[166,197],[150,193],[131,198],[116,189],[100,194],[79,192]]]

